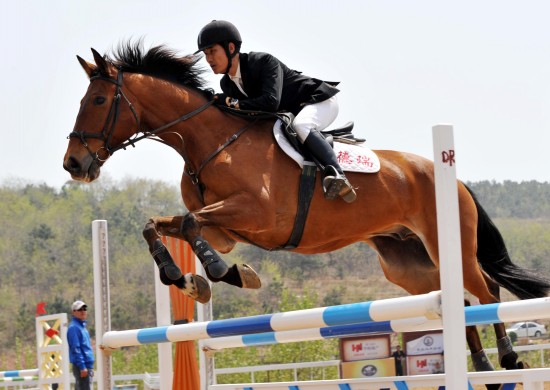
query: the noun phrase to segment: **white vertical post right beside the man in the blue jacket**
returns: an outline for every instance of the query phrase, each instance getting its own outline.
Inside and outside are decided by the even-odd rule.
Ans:
[[[109,295],[109,240],[107,221],[92,221],[94,256],[94,308],[96,338],[96,382],[98,390],[111,390],[111,357],[100,346],[103,335],[111,330],[111,301]]]

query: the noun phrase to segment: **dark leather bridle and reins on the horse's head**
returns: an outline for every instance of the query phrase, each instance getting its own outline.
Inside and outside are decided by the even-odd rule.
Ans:
[[[120,149],[126,150],[126,148],[128,146],[135,147],[136,142],[141,141],[142,139],[145,139],[145,138],[152,138],[152,139],[155,139],[155,140],[159,141],[160,139],[157,139],[157,138],[154,138],[154,137],[158,136],[158,134],[160,134],[163,130],[168,129],[169,127],[172,127],[172,126],[174,126],[175,124],[177,124],[179,122],[183,122],[183,121],[185,121],[189,118],[194,117],[195,115],[197,115],[200,112],[204,111],[205,109],[207,109],[208,107],[210,107],[214,103],[214,100],[210,100],[210,101],[206,102],[204,105],[200,106],[199,108],[197,108],[197,109],[195,109],[195,110],[193,110],[193,111],[191,111],[191,112],[189,112],[185,115],[182,115],[179,118],[177,118],[177,119],[175,119],[175,120],[173,120],[173,121],[171,121],[171,122],[169,122],[165,125],[162,125],[162,126],[156,128],[154,130],[144,131],[144,130],[141,129],[141,121],[139,120],[139,116],[138,116],[134,106],[132,105],[132,103],[130,102],[130,100],[124,94],[124,91],[122,90],[122,79],[123,79],[124,72],[120,68],[117,68],[117,69],[118,69],[118,74],[117,74],[116,79],[113,79],[111,77],[106,77],[106,76],[103,76],[101,74],[97,74],[95,76],[90,77],[90,83],[92,83],[96,80],[103,80],[103,81],[113,83],[116,86],[113,102],[111,103],[111,107],[109,109],[109,114],[107,115],[107,119],[105,120],[105,124],[103,125],[103,129],[101,130],[101,133],[91,133],[91,132],[86,132],[86,131],[73,130],[69,134],[69,136],[67,137],[67,138],[78,138],[78,139],[80,139],[80,142],[82,142],[82,145],[86,148],[86,150],[88,151],[88,153],[92,157],[93,161],[105,162],[106,159],[101,159],[99,157],[99,153],[100,153],[101,150],[105,150],[108,153],[108,155],[111,156],[117,150],[120,150]],[[112,141],[112,138],[113,138],[115,126],[116,126],[116,123],[117,123],[118,118],[119,118],[121,97],[124,98],[124,100],[128,104],[128,107],[132,111],[134,119],[136,120],[137,131],[134,133],[135,134],[134,137],[129,138],[128,140],[124,141],[120,145],[111,146],[110,144],[111,144],[111,141]],[[140,133],[142,133],[142,134],[138,135]],[[87,139],[89,139],[89,138],[95,138],[95,139],[102,140],[103,141],[103,146],[101,146],[98,150],[93,152],[90,149],[90,146],[87,142]],[[160,142],[164,142],[164,141],[160,140]]]

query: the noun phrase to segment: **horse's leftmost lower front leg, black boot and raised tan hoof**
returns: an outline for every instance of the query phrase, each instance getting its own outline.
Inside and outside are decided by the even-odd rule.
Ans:
[[[143,229],[143,237],[149,245],[149,252],[159,267],[160,280],[165,285],[175,285],[188,297],[206,303],[212,296],[210,285],[200,275],[192,273],[182,274],[174,262],[170,252],[161,241],[157,225],[153,219],[149,220]]]

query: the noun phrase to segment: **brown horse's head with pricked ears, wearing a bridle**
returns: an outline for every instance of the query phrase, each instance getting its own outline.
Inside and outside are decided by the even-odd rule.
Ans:
[[[100,168],[114,151],[125,147],[139,131],[134,106],[125,95],[123,72],[92,49],[95,64],[77,56],[90,79],[90,86],[80,102],[80,110],[63,168],[75,180],[91,182],[99,177]]]

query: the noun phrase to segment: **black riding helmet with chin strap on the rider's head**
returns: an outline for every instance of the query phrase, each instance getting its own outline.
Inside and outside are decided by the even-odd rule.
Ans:
[[[229,52],[229,42],[233,42],[235,44],[235,52],[233,52],[233,54]],[[199,37],[197,38],[198,50],[195,54],[214,46],[216,43],[220,44],[224,48],[227,59],[229,60],[229,64],[225,71],[225,73],[227,73],[231,67],[231,60],[241,49],[241,34],[233,23],[225,20],[213,20],[204,26],[199,32]]]

